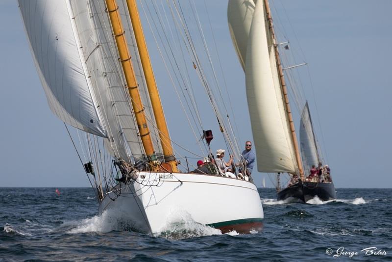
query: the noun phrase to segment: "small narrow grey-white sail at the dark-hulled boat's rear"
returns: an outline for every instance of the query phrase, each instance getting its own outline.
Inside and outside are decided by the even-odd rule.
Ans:
[[[301,114],[301,123],[299,126],[299,142],[301,145],[301,155],[304,162],[305,173],[310,173],[312,165],[317,166],[319,163],[319,155],[315,134],[313,131],[312,119],[310,117],[308,102],[306,102]]]

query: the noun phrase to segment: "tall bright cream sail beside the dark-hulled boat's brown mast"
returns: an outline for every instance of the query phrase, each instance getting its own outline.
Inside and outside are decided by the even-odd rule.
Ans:
[[[246,48],[246,96],[259,172],[295,173],[294,143],[283,103],[264,1],[257,1]]]

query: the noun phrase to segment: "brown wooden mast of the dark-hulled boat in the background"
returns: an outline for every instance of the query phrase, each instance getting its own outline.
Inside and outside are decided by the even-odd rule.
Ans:
[[[289,104],[289,96],[287,94],[287,87],[286,87],[286,81],[283,75],[283,68],[282,68],[282,63],[280,61],[279,57],[279,51],[278,51],[278,45],[276,44],[276,39],[275,39],[275,30],[273,29],[273,24],[272,24],[272,17],[271,17],[271,10],[270,10],[270,4],[268,3],[268,0],[264,0],[264,3],[266,5],[266,13],[267,13],[267,20],[270,24],[270,30],[272,34],[272,41],[273,41],[273,47],[275,49],[275,57],[276,57],[276,63],[278,65],[278,73],[279,73],[279,79],[280,83],[282,86],[282,93],[283,93],[283,99],[285,102],[286,106],[286,113],[289,117],[289,123],[290,123],[290,131],[294,143],[294,151],[295,151],[295,158],[298,164],[298,171],[299,171],[299,176],[302,181],[305,180],[304,172],[303,172],[303,167],[302,167],[302,160],[301,156],[299,154],[299,148],[298,148],[298,142],[297,142],[297,137],[295,134],[295,127],[294,127],[294,121],[293,121],[293,115],[291,113],[291,108]]]

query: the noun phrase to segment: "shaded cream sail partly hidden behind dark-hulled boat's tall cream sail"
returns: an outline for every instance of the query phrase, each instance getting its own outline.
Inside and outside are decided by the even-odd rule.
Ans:
[[[227,20],[231,40],[244,71],[246,47],[256,7],[255,2],[253,0],[229,0],[227,5]]]

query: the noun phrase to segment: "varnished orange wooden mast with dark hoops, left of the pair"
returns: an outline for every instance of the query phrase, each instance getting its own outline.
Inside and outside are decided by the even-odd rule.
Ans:
[[[144,113],[144,107],[140,98],[138,83],[136,81],[135,72],[133,71],[131,56],[129,54],[128,46],[124,36],[119,8],[116,0],[105,0],[105,2],[110,17],[110,23],[113,28],[113,34],[116,39],[117,49],[120,54],[120,61],[123,66],[126,86],[128,88],[129,96],[131,97],[132,107],[139,129],[139,135],[141,137],[148,161],[156,160],[154,147],[152,145],[150,132],[147,126],[146,115]]]

